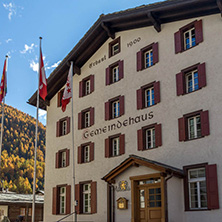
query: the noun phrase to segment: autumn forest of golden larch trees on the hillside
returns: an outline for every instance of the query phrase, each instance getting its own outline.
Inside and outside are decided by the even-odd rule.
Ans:
[[[2,108],[0,106],[0,118]],[[32,193],[36,119],[5,105],[0,184],[17,193]],[[1,119],[0,119],[1,129]],[[36,189],[44,189],[45,133],[38,125]]]

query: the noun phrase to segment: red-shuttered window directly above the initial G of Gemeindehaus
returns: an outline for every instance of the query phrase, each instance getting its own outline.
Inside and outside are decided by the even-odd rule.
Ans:
[[[94,108],[90,107],[78,114],[78,129],[84,129],[94,124]]]

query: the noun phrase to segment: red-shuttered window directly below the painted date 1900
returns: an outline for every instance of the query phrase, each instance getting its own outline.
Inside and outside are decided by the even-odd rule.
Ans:
[[[152,43],[137,52],[137,71],[149,68],[158,62],[158,42]]]

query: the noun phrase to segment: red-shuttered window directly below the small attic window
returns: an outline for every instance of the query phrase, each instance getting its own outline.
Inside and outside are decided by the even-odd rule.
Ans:
[[[106,68],[106,85],[111,85],[123,78],[123,60],[113,63]]]

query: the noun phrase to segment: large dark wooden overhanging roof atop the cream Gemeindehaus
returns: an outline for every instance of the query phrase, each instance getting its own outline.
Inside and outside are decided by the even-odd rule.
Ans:
[[[46,102],[40,98],[39,107],[46,110],[51,98],[64,86],[70,61],[74,73],[81,74],[81,67],[115,33],[130,29],[154,26],[160,32],[161,24],[222,12],[222,0],[168,0],[150,5],[101,15],[77,45],[50,74],[47,80]],[[37,91],[28,100],[36,106]]]

